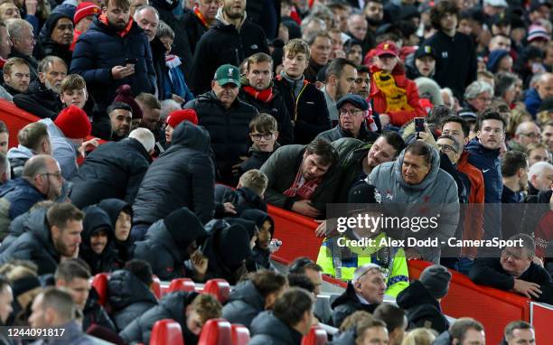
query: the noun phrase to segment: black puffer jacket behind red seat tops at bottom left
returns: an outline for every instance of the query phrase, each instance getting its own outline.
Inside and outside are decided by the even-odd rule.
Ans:
[[[198,337],[192,334],[186,327],[186,307],[196,298],[197,293],[178,292],[164,295],[159,305],[151,308],[135,321],[131,322],[119,336],[127,343],[150,342],[150,334],[154,323],[163,319],[173,319],[181,324],[183,330],[183,339],[185,344],[195,344]]]

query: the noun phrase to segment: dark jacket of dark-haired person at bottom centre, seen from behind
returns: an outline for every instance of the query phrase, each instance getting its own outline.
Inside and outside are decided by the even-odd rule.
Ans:
[[[300,345],[302,334],[277,319],[273,312],[261,312],[251,322],[249,345]]]

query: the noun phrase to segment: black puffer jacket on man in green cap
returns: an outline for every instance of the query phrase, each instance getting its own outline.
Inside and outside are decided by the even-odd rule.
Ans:
[[[240,156],[248,155],[249,121],[258,115],[258,109],[238,98],[225,109],[213,91],[192,99],[184,108],[196,110],[198,125],[210,133],[220,181],[235,185],[232,165],[240,163]]]

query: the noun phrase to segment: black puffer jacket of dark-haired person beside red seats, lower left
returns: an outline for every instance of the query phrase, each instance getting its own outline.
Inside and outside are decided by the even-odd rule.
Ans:
[[[126,269],[115,271],[108,282],[109,304],[118,331],[157,305],[155,295]]]

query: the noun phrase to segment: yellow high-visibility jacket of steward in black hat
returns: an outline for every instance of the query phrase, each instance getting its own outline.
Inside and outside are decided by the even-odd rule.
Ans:
[[[340,240],[340,238],[343,238]],[[317,264],[323,267],[323,274],[332,275],[336,279],[351,281],[357,267],[366,264],[377,264],[382,267],[386,276],[386,294],[396,297],[408,287],[409,274],[405,251],[402,247],[387,247],[384,232],[373,238],[374,246],[351,247],[345,242],[346,236],[325,238],[319,249]],[[380,245],[382,244],[382,245]]]

